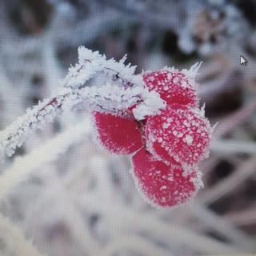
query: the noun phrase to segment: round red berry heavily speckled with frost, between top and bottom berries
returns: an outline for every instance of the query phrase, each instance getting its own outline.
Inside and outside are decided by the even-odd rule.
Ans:
[[[194,166],[208,154],[210,122],[202,110],[188,106],[167,106],[146,122],[146,145],[152,154],[182,166]]]

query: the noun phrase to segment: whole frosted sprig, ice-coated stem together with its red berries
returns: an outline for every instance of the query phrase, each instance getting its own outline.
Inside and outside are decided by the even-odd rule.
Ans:
[[[134,74],[125,61],[80,47],[78,64],[58,90],[1,132],[2,158],[57,114],[82,105],[93,113],[102,146],[130,155],[134,182],[148,202],[166,207],[192,198],[202,186],[198,162],[208,154],[211,137],[198,106],[200,65]]]

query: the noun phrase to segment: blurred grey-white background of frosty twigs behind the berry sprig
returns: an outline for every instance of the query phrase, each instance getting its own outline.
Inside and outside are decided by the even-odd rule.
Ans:
[[[130,159],[102,150],[91,130],[58,143],[88,119],[86,111],[74,110],[1,165],[5,174],[23,159],[23,166],[16,164],[22,178],[16,173],[18,181],[1,195],[1,255],[255,252],[256,2],[0,1],[1,130],[57,88],[81,45],[107,58],[128,54],[138,73],[203,62],[200,104],[206,103],[210,123],[218,122],[210,158],[200,166],[205,188],[186,205],[152,208],[134,186]],[[247,66],[240,65],[241,54]],[[60,146],[61,154],[40,165],[43,150]],[[38,149],[38,165],[30,165]],[[26,252],[25,241],[38,253]]]

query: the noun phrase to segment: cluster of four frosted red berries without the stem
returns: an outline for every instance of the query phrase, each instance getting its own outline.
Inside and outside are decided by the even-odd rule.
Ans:
[[[122,115],[94,112],[98,138],[110,152],[132,155],[134,181],[147,201],[176,206],[202,186],[197,164],[208,154],[210,123],[198,108],[194,79],[167,69],[142,77],[166,108],[140,122],[131,110]]]

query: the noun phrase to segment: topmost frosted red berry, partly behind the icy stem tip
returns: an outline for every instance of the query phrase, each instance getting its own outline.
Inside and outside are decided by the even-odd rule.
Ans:
[[[177,103],[197,106],[197,84],[182,72],[158,70],[142,76],[146,86],[150,90],[156,90],[167,105]]]

